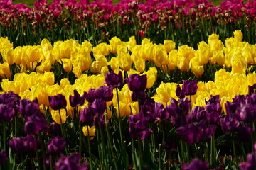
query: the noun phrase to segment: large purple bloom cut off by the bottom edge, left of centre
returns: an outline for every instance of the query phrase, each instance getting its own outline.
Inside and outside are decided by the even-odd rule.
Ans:
[[[88,163],[83,163],[80,166],[80,154],[71,154],[69,157],[60,157],[56,162],[56,169],[58,170],[87,170],[89,169]]]

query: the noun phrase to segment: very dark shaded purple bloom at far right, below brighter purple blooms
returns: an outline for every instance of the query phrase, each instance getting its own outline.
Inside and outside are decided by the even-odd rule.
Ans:
[[[237,129],[238,140],[241,142],[248,142],[251,140],[252,128],[250,125],[240,125]]]

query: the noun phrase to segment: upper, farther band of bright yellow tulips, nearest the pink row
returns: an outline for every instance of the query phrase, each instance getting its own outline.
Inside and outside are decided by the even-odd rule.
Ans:
[[[13,48],[7,38],[0,40],[0,54],[4,62],[0,65],[0,75],[3,78],[11,77],[9,67],[13,64],[20,72],[43,73],[49,72],[58,63],[65,72],[73,72],[75,77],[80,77],[82,72],[88,70],[91,73],[107,72],[108,66],[112,70],[120,68],[130,71],[134,65],[138,72],[144,72],[150,62],[166,73],[176,68],[181,72],[190,69],[198,78],[208,63],[232,67],[232,73],[245,73],[247,65],[254,65],[256,60],[256,45],[242,42],[240,30],[234,32],[234,38],[225,40],[225,47],[218,35],[212,34],[208,43],[202,41],[198,44],[198,50],[188,45],[182,45],[177,50],[174,41],[164,40],[164,44],[156,45],[147,38],[142,40],[142,45],[137,45],[134,36],[128,42],[114,37],[110,44],[100,43],[95,47],[87,40],[81,45],[75,40],[58,41],[52,46],[44,39],[41,45]]]

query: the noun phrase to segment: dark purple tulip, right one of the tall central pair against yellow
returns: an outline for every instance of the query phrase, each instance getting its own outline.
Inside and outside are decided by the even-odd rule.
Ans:
[[[127,79],[128,87],[131,91],[138,92],[144,91],[146,89],[146,74],[131,74],[129,79]]]

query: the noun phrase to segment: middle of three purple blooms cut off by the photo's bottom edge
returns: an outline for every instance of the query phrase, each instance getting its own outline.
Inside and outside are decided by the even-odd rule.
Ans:
[[[193,161],[190,164],[181,163],[183,170],[208,170],[209,169],[209,163],[203,162],[201,159],[193,159]]]

